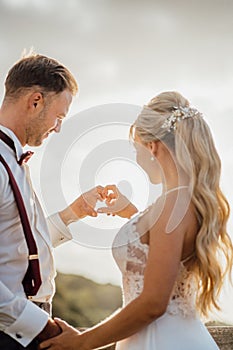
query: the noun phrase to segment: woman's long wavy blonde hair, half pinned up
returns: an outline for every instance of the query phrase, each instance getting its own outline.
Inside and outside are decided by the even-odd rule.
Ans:
[[[189,176],[191,200],[199,222],[193,265],[199,283],[197,308],[207,316],[212,307],[219,309],[217,297],[224,277],[231,274],[233,247],[226,232],[230,208],[219,186],[221,161],[207,123],[196,110],[192,117],[173,123],[176,119],[172,122],[171,116],[179,108],[190,110],[188,100],[181,94],[159,94],[144,106],[131,136],[134,130],[143,143],[164,142]]]

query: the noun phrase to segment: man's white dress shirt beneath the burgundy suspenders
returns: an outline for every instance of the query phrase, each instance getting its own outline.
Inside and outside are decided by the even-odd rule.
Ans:
[[[0,126],[15,144],[17,159],[23,153],[15,134]],[[10,167],[21,191],[36,241],[42,284],[32,301],[50,302],[56,275],[53,247],[72,239],[58,213],[45,219],[30,181],[27,164],[20,166],[14,151],[0,140],[0,154]],[[26,244],[18,208],[9,185],[9,175],[0,163],[0,330],[27,346],[48,321],[48,314],[26,298],[22,280],[28,266]]]

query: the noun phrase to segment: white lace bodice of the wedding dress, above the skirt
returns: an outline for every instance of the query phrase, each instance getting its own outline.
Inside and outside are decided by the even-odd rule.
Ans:
[[[141,215],[143,213],[125,224],[113,243],[113,256],[123,278],[124,305],[135,299],[143,289],[149,246],[140,241],[140,235],[136,230],[136,223]],[[187,270],[184,262],[181,262],[167,312],[173,315],[181,314],[184,317],[194,317],[196,314],[195,295],[194,276]]]

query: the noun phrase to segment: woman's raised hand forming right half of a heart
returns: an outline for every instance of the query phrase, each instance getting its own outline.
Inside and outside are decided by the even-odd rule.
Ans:
[[[115,185],[105,186],[102,190],[107,207],[97,209],[98,213],[107,215],[118,215],[122,218],[131,218],[137,213],[137,208],[124,196]]]

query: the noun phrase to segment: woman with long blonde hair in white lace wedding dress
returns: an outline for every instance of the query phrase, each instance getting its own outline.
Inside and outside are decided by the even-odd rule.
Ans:
[[[115,342],[117,350],[218,349],[201,316],[219,308],[233,258],[229,205],[219,188],[221,165],[209,127],[183,96],[163,92],[142,109],[130,135],[138,164],[163,191],[136,214],[115,186],[103,190],[107,208],[99,212],[133,216],[113,244],[123,307],[83,333],[57,320],[62,334],[41,349],[87,350]]]

